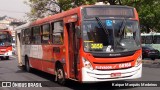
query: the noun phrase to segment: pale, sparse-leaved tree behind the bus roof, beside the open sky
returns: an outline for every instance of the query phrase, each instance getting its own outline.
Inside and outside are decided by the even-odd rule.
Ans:
[[[29,2],[25,3],[31,7],[31,11],[27,13],[27,16],[31,20],[43,18],[45,16],[57,13],[55,11],[55,7],[51,6],[56,5],[54,0],[29,0]]]

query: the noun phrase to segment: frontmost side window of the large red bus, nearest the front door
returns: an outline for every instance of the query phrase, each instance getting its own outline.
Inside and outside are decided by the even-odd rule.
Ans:
[[[52,29],[53,31],[53,44],[56,44],[56,45],[62,45],[63,44],[63,21],[57,21],[57,22],[54,22],[54,29]]]

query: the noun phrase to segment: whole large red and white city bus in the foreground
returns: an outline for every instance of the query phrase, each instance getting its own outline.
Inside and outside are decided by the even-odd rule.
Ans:
[[[142,75],[139,18],[128,6],[80,6],[17,27],[19,66],[99,82]]]

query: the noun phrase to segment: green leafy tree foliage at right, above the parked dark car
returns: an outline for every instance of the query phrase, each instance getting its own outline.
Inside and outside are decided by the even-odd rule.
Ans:
[[[133,0],[132,0],[133,1]],[[122,0],[124,5],[133,6],[137,9],[142,32],[160,32],[160,1],[159,0]]]

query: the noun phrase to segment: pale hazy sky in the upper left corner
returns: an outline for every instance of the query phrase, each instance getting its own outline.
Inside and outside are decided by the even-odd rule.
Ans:
[[[30,7],[24,4],[27,0],[0,0],[0,17],[7,15],[16,19],[25,20]]]

